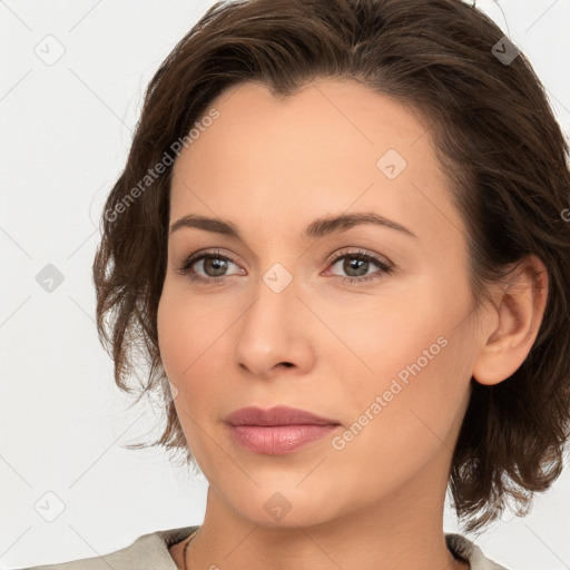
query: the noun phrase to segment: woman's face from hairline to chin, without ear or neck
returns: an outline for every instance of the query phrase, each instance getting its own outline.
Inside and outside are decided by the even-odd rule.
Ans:
[[[158,332],[220,504],[293,525],[395,497],[443,503],[479,337],[465,230],[430,130],[350,80],[284,100],[243,83],[213,107],[174,166],[170,226],[193,214],[238,237],[171,232]],[[394,227],[315,226],[356,214]],[[191,254],[212,257],[183,275]],[[229,413],[276,405],[337,425],[281,454],[234,439]]]

